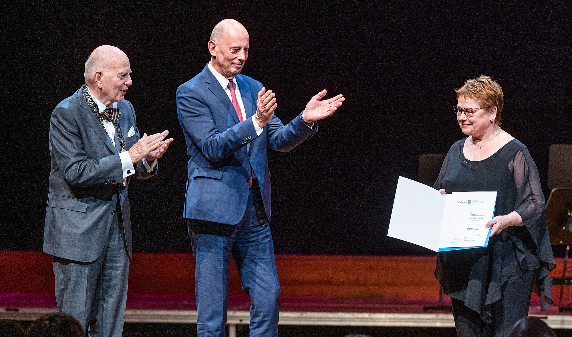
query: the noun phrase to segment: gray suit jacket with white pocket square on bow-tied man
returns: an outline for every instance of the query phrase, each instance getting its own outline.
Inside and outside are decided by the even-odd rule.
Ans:
[[[135,111],[125,100],[117,102],[117,107],[125,147],[130,149],[139,139]],[[135,134],[127,137],[132,126]],[[116,145],[120,146],[117,131]],[[51,171],[43,251],[80,262],[96,260],[104,248],[119,195],[125,247],[131,258],[129,178],[128,186],[122,187],[120,151],[93,115],[81,89],[60,102],[51,114],[49,149]],[[134,168],[138,179],[156,174],[147,172],[142,162]]]

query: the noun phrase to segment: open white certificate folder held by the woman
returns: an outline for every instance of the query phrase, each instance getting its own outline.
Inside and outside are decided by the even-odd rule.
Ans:
[[[433,251],[486,247],[496,192],[452,192],[399,177],[387,236]]]

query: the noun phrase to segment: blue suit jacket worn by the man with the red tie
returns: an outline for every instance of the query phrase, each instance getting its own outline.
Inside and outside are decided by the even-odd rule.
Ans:
[[[177,114],[190,157],[184,218],[239,223],[247,206],[252,167],[268,220],[272,220],[267,149],[290,151],[317,132],[300,116],[283,125],[272,115],[257,135],[250,117],[256,113],[262,84],[241,74],[236,81],[247,116],[243,122],[208,66],[177,89]]]

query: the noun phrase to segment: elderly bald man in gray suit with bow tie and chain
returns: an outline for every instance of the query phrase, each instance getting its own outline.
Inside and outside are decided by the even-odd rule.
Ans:
[[[140,138],[129,58],[100,46],[85,63],[85,85],[51,114],[51,171],[43,251],[53,256],[60,312],[89,336],[121,336],[132,251],[129,178],[157,174],[169,131]],[[90,318],[92,318],[90,320]],[[88,322],[89,326],[88,326]]]

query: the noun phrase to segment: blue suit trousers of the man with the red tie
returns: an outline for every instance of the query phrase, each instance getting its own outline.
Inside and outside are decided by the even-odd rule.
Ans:
[[[274,246],[268,221],[257,220],[252,191],[244,218],[236,228],[214,235],[197,232],[189,225],[189,236],[196,263],[198,336],[226,336],[231,256],[243,290],[251,298],[250,336],[277,336],[280,284]]]

